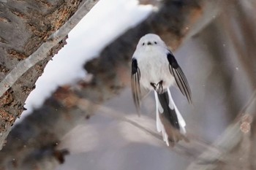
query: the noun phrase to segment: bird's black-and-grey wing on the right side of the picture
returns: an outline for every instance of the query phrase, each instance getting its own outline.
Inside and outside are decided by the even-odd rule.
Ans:
[[[192,104],[191,90],[189,88],[189,83],[187,82],[187,78],[184,72],[182,72],[181,67],[178,66],[176,58],[174,58],[171,52],[167,53],[167,59],[170,63],[170,73],[173,74],[173,77],[176,80],[178,88],[181,90],[181,93],[187,97],[189,103]]]

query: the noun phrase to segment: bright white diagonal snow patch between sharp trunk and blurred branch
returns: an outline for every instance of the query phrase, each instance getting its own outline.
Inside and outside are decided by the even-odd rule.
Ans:
[[[101,0],[69,33],[67,45],[53,57],[36,82],[36,88],[26,99],[23,117],[42,106],[58,86],[72,84],[86,72],[83,64],[94,58],[108,43],[128,28],[136,26],[153,10],[151,5],[139,5],[136,0]]]

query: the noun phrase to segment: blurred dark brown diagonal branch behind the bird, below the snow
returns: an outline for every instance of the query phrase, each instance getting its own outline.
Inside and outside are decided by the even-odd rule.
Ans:
[[[0,152],[1,169],[42,169],[45,164],[53,169],[58,161],[62,163],[67,151],[56,147],[61,137],[89,118],[98,104],[129,85],[129,62],[140,36],[148,32],[164,34],[167,45],[175,50],[200,19],[204,7],[197,0],[163,1],[159,12],[108,45],[99,58],[86,63],[86,71],[94,75],[91,82],[81,82],[75,90],[59,88],[42,108],[12,130]]]

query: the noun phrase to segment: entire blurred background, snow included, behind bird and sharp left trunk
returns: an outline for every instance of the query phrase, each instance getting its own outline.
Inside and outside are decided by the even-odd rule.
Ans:
[[[254,0],[101,0],[48,63],[0,152],[1,169],[256,169]],[[159,34],[187,76],[174,101],[189,143],[167,147],[151,93],[138,117],[130,59]]]

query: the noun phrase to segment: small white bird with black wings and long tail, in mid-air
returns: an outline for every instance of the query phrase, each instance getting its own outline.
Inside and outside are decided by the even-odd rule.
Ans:
[[[189,83],[173,53],[157,34],[146,34],[138,42],[132,55],[132,96],[140,115],[141,100],[154,91],[157,131],[167,146],[187,139],[186,122],[178,111],[170,87],[178,86],[192,104]]]

